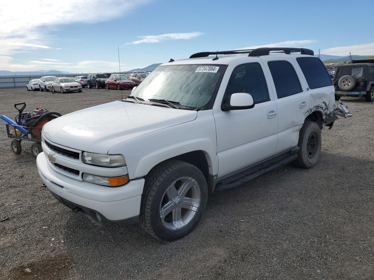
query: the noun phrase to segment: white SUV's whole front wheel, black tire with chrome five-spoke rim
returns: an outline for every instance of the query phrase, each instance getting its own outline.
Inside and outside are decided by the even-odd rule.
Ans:
[[[157,239],[179,239],[199,223],[207,200],[208,186],[196,166],[165,161],[145,177],[140,224]]]

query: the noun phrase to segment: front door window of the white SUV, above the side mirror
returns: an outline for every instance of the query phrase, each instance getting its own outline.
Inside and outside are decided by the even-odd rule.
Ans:
[[[269,100],[264,72],[260,64],[248,63],[235,67],[227,83],[225,96],[227,98],[238,92],[252,94],[255,103]]]

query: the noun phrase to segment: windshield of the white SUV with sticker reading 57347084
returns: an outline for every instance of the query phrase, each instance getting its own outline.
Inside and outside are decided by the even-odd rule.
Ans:
[[[205,107],[212,100],[223,65],[167,65],[154,69],[131,94],[144,100],[166,99],[182,106]]]

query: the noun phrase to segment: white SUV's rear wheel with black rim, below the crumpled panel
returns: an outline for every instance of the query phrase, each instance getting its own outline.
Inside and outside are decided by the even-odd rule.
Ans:
[[[316,165],[321,154],[321,129],[312,121],[305,121],[300,130],[300,150],[294,164],[301,168],[311,168]]]

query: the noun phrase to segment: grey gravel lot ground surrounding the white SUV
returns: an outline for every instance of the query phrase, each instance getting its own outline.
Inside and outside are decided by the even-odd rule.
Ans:
[[[66,114],[119,98],[7,89],[0,113],[13,118],[25,101]],[[30,143],[12,153],[2,122],[0,279],[374,279],[374,103],[342,101],[353,117],[322,131],[316,167],[215,192],[196,230],[171,243],[69,211],[41,187]]]

